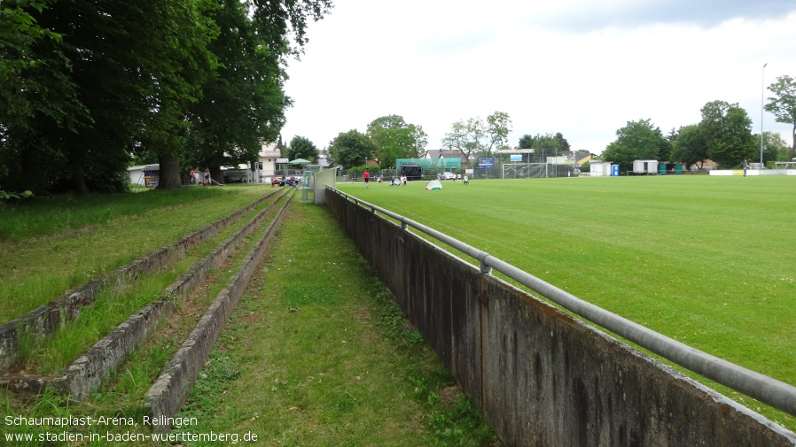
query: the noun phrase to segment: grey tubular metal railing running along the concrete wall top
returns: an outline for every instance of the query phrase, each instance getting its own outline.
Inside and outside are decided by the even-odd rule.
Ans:
[[[645,350],[654,352],[660,357],[667,358],[679,366],[702,375],[707,379],[716,381],[727,388],[734,389],[748,397],[753,397],[763,404],[770,405],[778,410],[796,416],[796,387],[777,381],[767,375],[756,373],[743,366],[738,366],[722,358],[717,358],[706,352],[699,351],[687,344],[677,342],[666,335],[659,334],[649,328],[644,328],[631,320],[620,317],[619,315],[608,312],[595,304],[587,303],[581,298],[567,293],[562,289],[551,285],[546,281],[536,278],[532,274],[520,270],[516,266],[490,255],[459,241],[449,235],[445,235],[432,227],[407,219],[400,214],[379,207],[375,204],[364,202],[354,196],[350,196],[338,189],[327,187],[331,192],[346,197],[355,204],[371,209],[371,212],[381,212],[394,220],[401,222],[401,227],[405,230],[412,227],[419,232],[429,235],[434,239],[445,243],[456,250],[459,250],[477,259],[480,262],[480,271],[484,274],[491,274],[492,269],[506,275],[514,281],[526,286],[550,301],[564,307],[570,312],[580,315],[582,318],[605,328],[616,335],[620,335],[629,341],[638,344]]]

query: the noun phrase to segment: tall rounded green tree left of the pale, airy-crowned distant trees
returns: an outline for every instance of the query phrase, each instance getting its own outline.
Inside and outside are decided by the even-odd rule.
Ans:
[[[382,168],[395,167],[397,158],[418,158],[428,143],[423,127],[409,124],[399,115],[373,119],[367,135],[376,147],[376,158]]]

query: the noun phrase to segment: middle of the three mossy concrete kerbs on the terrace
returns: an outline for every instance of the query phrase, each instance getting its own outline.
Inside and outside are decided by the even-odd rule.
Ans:
[[[251,234],[261,224],[277,204],[278,201],[270,204],[268,208],[259,212],[254,219],[247,222],[244,227],[241,227],[205,258],[197,261],[187,273],[180,275],[166,289],[158,302],[144,306],[108,335],[105,335],[102,340],[95,343],[82,356],[67,366],[62,374],[49,381],[50,385],[59,389],[63,394],[78,400],[98,389],[111,371],[121,365],[124,358],[127,358],[140,343],[152,335],[160,320],[168,318],[176,309],[177,303],[182,301],[198,284],[204,282],[210,270],[220,265],[243,238]],[[46,383],[46,381],[44,379],[35,383]],[[30,387],[29,379],[23,383],[27,383],[27,386]],[[23,386],[23,384],[17,384],[13,388],[20,389]]]

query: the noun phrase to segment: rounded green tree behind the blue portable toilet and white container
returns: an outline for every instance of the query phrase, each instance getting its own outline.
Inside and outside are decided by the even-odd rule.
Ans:
[[[628,121],[627,126],[616,131],[616,136],[616,140],[603,151],[602,158],[620,165],[623,171],[629,170],[634,160],[659,159],[661,146],[668,143],[660,128],[650,119]]]

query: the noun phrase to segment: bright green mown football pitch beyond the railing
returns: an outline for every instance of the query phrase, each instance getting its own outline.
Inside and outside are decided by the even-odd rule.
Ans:
[[[796,241],[790,232],[796,177],[338,188],[698,350],[796,385]],[[796,426],[783,413],[718,388]]]

